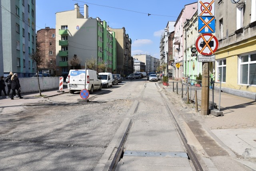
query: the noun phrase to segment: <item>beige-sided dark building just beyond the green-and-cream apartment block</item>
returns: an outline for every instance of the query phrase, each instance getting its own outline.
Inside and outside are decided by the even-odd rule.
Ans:
[[[117,69],[114,73],[121,74],[122,76],[128,75],[133,72],[133,58],[132,58],[132,40],[126,34],[125,28],[110,28],[109,31],[115,32],[116,35],[116,60]]]

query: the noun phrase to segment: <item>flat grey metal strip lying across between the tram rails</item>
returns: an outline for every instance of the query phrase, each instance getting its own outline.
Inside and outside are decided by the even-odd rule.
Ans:
[[[188,158],[184,152],[152,152],[152,151],[124,151],[124,156],[144,156],[144,157],[183,157]]]

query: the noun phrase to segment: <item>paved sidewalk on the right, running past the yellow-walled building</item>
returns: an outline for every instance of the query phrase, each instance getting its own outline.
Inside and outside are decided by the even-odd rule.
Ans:
[[[169,86],[160,82],[159,85],[177,95],[176,91],[173,92],[172,82],[176,86],[175,80],[169,80]],[[178,82],[178,87],[181,87],[181,82]],[[181,93],[178,96],[181,97]],[[200,107],[198,110],[200,115]],[[210,114],[200,117],[200,124],[229,155],[238,157],[240,163],[256,170],[256,101],[222,92],[220,111],[223,116]]]

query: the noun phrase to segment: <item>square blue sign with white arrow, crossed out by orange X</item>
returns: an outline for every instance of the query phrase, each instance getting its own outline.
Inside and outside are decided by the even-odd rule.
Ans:
[[[198,17],[198,33],[215,33],[215,17]]]

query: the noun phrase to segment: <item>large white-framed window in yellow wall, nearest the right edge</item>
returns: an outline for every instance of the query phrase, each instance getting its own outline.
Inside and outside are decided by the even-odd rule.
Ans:
[[[256,52],[239,56],[239,84],[256,85]]]

